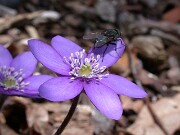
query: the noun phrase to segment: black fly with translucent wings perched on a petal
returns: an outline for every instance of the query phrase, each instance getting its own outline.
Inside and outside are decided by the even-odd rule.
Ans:
[[[95,40],[94,48],[101,48],[107,46],[103,52],[104,54],[109,45],[116,45],[116,41],[120,38],[121,34],[117,29],[107,29],[102,32],[91,33],[83,36],[83,39]],[[116,49],[116,48],[115,48]]]

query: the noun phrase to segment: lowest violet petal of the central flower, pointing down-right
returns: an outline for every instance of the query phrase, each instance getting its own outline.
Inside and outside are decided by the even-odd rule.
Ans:
[[[101,113],[110,119],[120,119],[123,109],[118,95],[113,90],[96,81],[84,83],[84,90]]]

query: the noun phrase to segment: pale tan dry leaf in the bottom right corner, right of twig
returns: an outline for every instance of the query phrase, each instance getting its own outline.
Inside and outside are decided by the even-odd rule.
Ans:
[[[152,104],[154,113],[169,135],[180,127],[180,94],[174,98],[162,98]]]

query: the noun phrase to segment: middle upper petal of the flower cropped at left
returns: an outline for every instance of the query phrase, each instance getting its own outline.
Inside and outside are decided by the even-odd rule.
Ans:
[[[24,78],[30,76],[36,69],[37,60],[31,52],[24,52],[16,56],[11,62],[11,67],[15,68],[15,71],[23,69]]]

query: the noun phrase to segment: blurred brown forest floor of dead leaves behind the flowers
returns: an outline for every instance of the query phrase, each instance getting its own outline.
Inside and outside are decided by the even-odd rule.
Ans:
[[[83,35],[105,29],[118,29],[126,44],[109,71],[135,82],[148,96],[119,96],[124,112],[113,121],[82,94],[63,135],[180,135],[179,0],[0,0],[0,44],[13,56],[28,50],[29,39],[50,44],[55,35],[89,49],[93,42]],[[54,75],[41,64],[36,73]],[[1,135],[51,135],[70,106],[71,101],[7,97]]]

